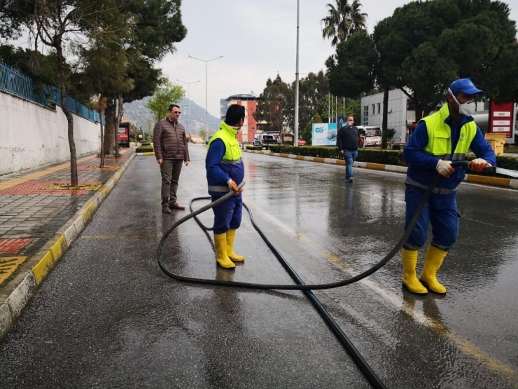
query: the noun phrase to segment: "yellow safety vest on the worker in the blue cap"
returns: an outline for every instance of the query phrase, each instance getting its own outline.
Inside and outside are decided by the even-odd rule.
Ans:
[[[458,143],[452,156],[451,128],[445,123],[448,116],[448,104],[444,104],[435,114],[421,119],[421,121],[426,123],[426,130],[428,131],[428,144],[424,151],[430,156],[435,156],[445,161],[450,159],[453,161],[464,160],[470,144],[477,134],[477,125],[474,121],[469,121],[461,127],[461,135],[458,138]]]

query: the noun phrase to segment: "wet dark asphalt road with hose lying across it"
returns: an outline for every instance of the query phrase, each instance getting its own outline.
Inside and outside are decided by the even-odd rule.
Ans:
[[[179,203],[207,196],[193,145]],[[306,283],[348,278],[402,234],[404,176],[244,153],[244,202]],[[195,207],[207,204],[195,203]],[[462,184],[446,296],[402,290],[400,258],[316,296],[388,388],[518,388],[518,192]],[[300,292],[186,285],[155,260],[188,212],[160,212],[160,172],[139,157],[0,345],[2,388],[369,388]],[[200,219],[211,224],[211,211]],[[293,283],[243,217],[235,271],[190,220],[165,244],[176,273]],[[421,250],[419,269],[424,250]]]

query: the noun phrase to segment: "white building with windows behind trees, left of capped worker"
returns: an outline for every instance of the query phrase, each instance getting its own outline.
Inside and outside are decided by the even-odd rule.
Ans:
[[[374,114],[372,114],[372,104],[374,104]],[[357,125],[364,125],[364,107],[369,109],[368,124],[381,127],[383,122],[383,93],[362,97],[361,99],[361,118]],[[378,113],[379,107],[379,113]],[[393,142],[405,142],[407,133],[407,95],[400,89],[388,92],[388,128],[395,129]]]

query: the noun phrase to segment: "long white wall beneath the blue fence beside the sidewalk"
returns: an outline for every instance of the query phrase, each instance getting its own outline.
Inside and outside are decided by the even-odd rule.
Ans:
[[[73,115],[77,156],[98,151],[99,123]],[[70,160],[66,116],[0,91],[0,175]]]

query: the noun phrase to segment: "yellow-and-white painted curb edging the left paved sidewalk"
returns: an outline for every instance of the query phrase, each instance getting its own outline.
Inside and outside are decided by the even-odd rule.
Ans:
[[[109,195],[134,157],[135,154],[132,154],[127,158],[116,175],[109,179],[64,226],[59,228],[55,236],[45,243],[41,250],[25,261],[18,269],[15,278],[0,290],[0,341],[3,341],[13,329],[25,307],[38,293],[45,278],[87,226],[94,212]]]

